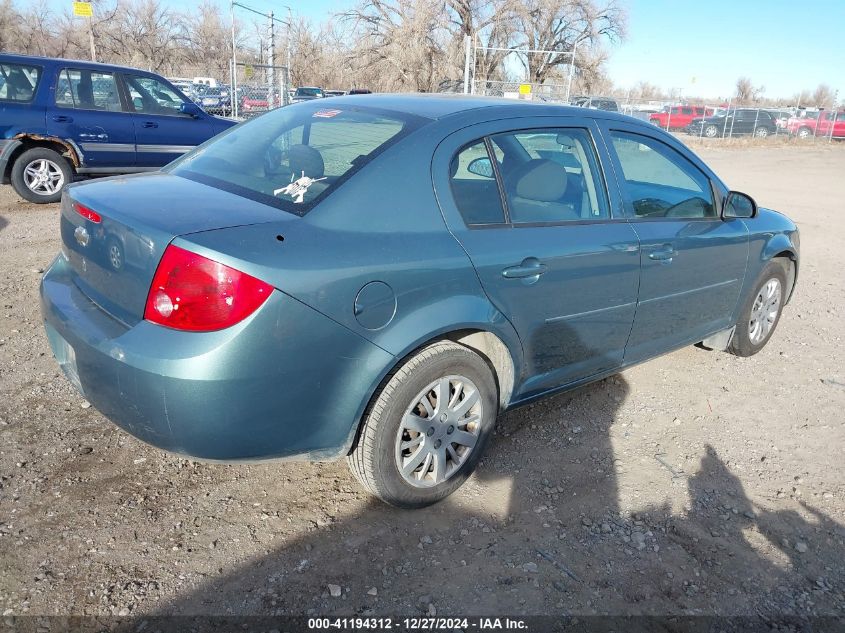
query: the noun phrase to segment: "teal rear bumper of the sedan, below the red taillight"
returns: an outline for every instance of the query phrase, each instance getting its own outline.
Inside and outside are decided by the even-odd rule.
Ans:
[[[393,357],[274,292],[241,323],[179,332],[114,320],[60,255],[41,284],[53,354],[115,424],[158,448],[208,460],[345,455]]]

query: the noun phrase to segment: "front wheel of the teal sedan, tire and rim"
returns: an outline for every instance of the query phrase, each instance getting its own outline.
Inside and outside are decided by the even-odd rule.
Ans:
[[[772,285],[776,285],[776,294]],[[786,267],[776,260],[770,261],[745,299],[728,351],[735,356],[753,356],[766,346],[774,334],[783,305],[787,298]],[[773,305],[774,299],[777,304]]]

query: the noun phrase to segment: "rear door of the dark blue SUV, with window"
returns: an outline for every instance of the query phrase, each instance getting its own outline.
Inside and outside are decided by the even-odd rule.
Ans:
[[[120,171],[135,165],[135,129],[114,73],[65,68],[46,111],[47,132],[72,140],[82,170]]]

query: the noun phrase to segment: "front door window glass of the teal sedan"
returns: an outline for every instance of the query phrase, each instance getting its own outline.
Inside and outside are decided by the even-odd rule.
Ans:
[[[707,176],[657,139],[612,131],[613,148],[637,218],[715,218]]]

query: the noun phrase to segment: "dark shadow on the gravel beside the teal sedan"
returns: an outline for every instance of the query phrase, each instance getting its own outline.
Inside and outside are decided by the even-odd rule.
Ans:
[[[709,445],[691,477],[667,475],[684,511],[622,511],[628,390],[620,375],[509,412],[446,501],[367,501],[149,615],[841,614],[843,527],[756,505]]]

